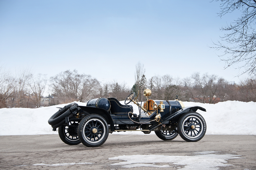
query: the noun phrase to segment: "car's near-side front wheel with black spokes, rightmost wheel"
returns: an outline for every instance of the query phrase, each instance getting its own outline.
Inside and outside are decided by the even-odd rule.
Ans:
[[[197,112],[188,112],[178,121],[178,133],[187,142],[197,142],[206,133],[206,122]]]

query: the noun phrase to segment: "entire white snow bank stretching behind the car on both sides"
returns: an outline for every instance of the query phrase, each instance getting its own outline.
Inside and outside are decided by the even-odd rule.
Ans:
[[[80,106],[86,103],[76,102]],[[123,104],[124,102],[121,101]],[[256,135],[256,103],[225,101],[217,104],[202,104],[183,102],[185,106],[201,106],[207,112],[198,110],[206,120],[206,135]],[[131,104],[131,103],[130,103]],[[48,119],[58,111],[57,106],[27,108],[2,108],[0,109],[1,130],[0,135],[45,135],[58,134],[53,132],[48,124]],[[138,113],[138,106],[133,104],[134,113]],[[138,134],[143,132],[114,132],[113,134]],[[154,135],[154,133],[151,133]]]

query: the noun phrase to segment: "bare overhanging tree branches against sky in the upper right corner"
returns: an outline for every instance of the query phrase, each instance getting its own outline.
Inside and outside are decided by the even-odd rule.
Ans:
[[[241,16],[230,23],[229,26],[222,27],[227,33],[220,37],[221,41],[214,43],[217,50],[223,50],[219,55],[226,66],[244,68],[241,74],[248,73],[256,75],[256,1],[255,0],[216,0],[220,1],[220,13],[222,17],[227,13],[241,11]]]

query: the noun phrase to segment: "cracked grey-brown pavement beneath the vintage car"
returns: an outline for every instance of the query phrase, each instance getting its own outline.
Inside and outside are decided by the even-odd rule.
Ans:
[[[156,135],[113,134],[110,134],[107,141],[97,148],[87,148],[83,144],[70,146],[63,143],[58,135],[0,136],[0,169],[177,170],[186,167],[198,169],[193,167],[194,165],[189,165],[188,162],[198,161],[199,156],[208,153],[205,151],[211,151],[210,153],[213,153],[213,156],[217,155],[217,157],[228,156],[229,154],[243,158],[226,158],[227,162],[224,161],[222,164],[232,165],[218,167],[219,164],[216,164],[216,167],[211,168],[212,170],[217,168],[220,170],[256,170],[256,136],[206,135],[201,141],[188,143],[182,140],[180,136],[172,141],[162,141]],[[179,160],[186,158],[188,161],[185,165],[177,165],[175,162],[168,163],[168,161],[150,163],[152,166],[163,166],[163,168],[125,168],[120,165],[120,162],[124,163],[125,160],[109,159],[123,155],[143,155],[137,159],[148,159],[149,162],[159,156],[154,156],[152,159],[147,157],[148,155],[171,156]],[[186,166],[186,164],[188,165]],[[200,162],[195,165],[200,165]]]

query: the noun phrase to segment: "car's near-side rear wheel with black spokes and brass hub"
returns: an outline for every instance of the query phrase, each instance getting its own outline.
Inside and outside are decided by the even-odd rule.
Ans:
[[[79,123],[78,137],[87,147],[98,147],[104,144],[108,136],[109,126],[101,115],[87,115]]]

